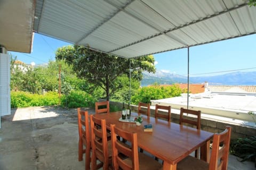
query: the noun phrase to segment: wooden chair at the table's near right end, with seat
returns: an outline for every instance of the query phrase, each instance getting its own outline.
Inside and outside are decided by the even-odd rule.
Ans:
[[[177,169],[220,169],[226,170],[228,168],[228,152],[230,144],[231,127],[227,126],[226,130],[221,133],[213,135],[212,153],[210,163],[195,157],[188,156],[178,163]]]

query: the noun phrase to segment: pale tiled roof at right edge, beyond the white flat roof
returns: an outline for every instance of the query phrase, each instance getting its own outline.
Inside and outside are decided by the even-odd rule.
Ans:
[[[256,86],[208,85],[207,89],[219,92],[256,92]]]

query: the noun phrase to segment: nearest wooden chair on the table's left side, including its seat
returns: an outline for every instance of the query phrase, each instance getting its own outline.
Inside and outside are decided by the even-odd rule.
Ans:
[[[124,131],[113,124],[111,124],[110,127],[113,154],[112,159],[115,170],[120,168],[123,170],[162,168],[162,165],[154,160],[154,158],[138,152],[137,133]],[[122,142],[118,141],[116,138],[117,135],[129,141],[131,143],[131,147],[126,147]],[[127,158],[123,159],[122,157],[119,157],[120,153],[125,155]]]

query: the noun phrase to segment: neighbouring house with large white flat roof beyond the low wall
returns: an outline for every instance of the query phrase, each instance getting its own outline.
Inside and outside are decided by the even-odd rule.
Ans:
[[[186,85],[182,84],[182,86]],[[204,114],[253,122],[252,117],[247,113],[249,111],[256,113],[256,86],[209,85],[208,82],[197,84],[198,86],[191,85],[188,101],[187,94],[181,94],[180,97],[151,100],[151,105],[170,105],[175,109],[187,108],[188,105],[188,108],[201,110]],[[204,91],[194,93],[193,87],[201,87],[201,89],[204,87]]]

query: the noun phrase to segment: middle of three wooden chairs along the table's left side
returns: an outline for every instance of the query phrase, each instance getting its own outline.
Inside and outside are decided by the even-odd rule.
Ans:
[[[91,145],[92,145],[92,169],[98,169],[97,159],[103,163],[103,170],[111,167],[111,141],[107,140],[106,120],[100,120],[93,115],[90,116],[91,120]],[[101,128],[99,128],[99,126]]]

